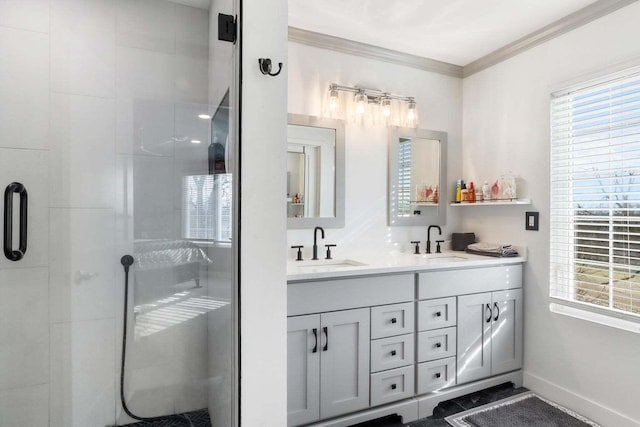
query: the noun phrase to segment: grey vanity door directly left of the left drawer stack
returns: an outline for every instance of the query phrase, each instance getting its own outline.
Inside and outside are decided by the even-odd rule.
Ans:
[[[321,323],[321,417],[367,408],[369,309],[323,313]]]

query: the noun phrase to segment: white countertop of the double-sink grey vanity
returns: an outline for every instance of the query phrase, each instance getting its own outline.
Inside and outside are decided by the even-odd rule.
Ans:
[[[443,251],[436,254],[387,253],[354,255],[333,260],[287,261],[287,281],[299,282],[316,279],[420,272],[494,265],[519,264],[526,261],[526,248],[517,248],[517,257],[490,257],[460,251]]]

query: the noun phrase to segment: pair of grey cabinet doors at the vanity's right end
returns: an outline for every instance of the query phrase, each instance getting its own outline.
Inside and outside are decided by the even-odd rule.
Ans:
[[[522,289],[458,297],[458,384],[522,367]]]

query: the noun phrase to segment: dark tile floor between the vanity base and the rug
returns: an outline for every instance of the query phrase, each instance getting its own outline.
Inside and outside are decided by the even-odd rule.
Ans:
[[[403,424],[400,421],[400,417],[393,415],[358,424],[357,427],[448,427],[449,424],[447,424],[444,418],[449,415],[457,414],[458,412],[466,411],[467,409],[475,408],[477,406],[486,405],[487,403],[505,399],[515,394],[524,393],[525,391],[529,390],[524,387],[515,388],[510,383],[502,384],[441,402],[433,410],[433,416],[423,418],[409,424]]]

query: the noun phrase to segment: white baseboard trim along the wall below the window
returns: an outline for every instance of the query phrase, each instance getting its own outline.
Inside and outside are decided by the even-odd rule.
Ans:
[[[566,406],[605,427],[640,426],[640,421],[636,421],[600,403],[580,396],[544,378],[525,372],[523,380],[524,386],[529,390],[560,405]]]

